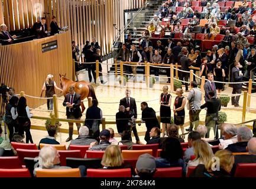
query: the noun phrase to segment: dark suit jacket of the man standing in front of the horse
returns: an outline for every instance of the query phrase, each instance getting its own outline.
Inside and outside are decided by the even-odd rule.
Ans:
[[[63,102],[63,106],[67,106],[66,102],[70,102],[70,93],[66,94],[64,102]],[[69,112],[69,107],[66,107],[66,115],[70,116],[73,115],[74,118],[79,118],[82,117],[82,112],[80,109],[80,103],[81,103],[81,99],[80,99],[80,94],[74,93],[74,98],[73,98],[73,107],[70,109]]]

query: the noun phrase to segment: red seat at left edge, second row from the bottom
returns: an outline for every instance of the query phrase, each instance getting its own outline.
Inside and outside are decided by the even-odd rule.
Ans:
[[[21,169],[19,157],[0,157],[0,169]]]

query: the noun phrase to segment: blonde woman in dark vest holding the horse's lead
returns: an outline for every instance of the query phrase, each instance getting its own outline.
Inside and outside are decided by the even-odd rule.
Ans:
[[[53,75],[48,74],[46,77],[46,82],[44,82],[43,87],[42,87],[42,92],[40,97],[43,96],[44,90],[46,91],[46,96],[45,97],[53,97],[53,94],[55,93],[55,89],[60,90],[62,92],[62,89],[57,87],[57,84],[53,80]],[[53,110],[53,99],[47,99],[47,109],[48,110]]]

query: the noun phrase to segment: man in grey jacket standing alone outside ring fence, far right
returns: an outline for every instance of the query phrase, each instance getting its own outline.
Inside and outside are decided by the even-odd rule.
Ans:
[[[241,64],[239,62],[235,62],[235,67],[233,67],[231,71],[231,82],[242,82],[242,71],[239,70],[239,67],[241,67]],[[242,83],[238,84],[232,84],[233,90],[232,94],[241,94],[242,93]],[[231,97],[231,103],[235,107],[239,107],[239,99],[240,96],[232,96]]]

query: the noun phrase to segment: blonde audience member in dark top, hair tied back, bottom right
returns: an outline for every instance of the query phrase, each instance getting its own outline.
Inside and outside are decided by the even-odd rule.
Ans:
[[[231,170],[235,162],[232,152],[222,149],[217,151],[214,157],[219,159],[219,170],[213,169],[215,161],[210,158],[206,165],[197,165],[190,177],[231,177]]]

